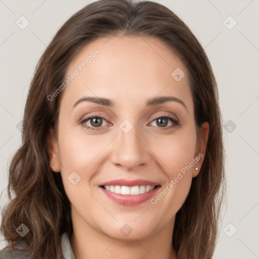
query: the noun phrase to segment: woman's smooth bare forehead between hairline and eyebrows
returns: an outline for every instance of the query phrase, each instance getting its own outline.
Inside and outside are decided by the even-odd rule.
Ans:
[[[109,99],[115,96],[115,104],[159,95],[192,102],[187,68],[154,37],[112,36],[92,41],[73,58],[66,75],[75,71],[77,75],[64,93],[68,102],[82,95]],[[185,76],[177,81],[174,71],[183,71]]]

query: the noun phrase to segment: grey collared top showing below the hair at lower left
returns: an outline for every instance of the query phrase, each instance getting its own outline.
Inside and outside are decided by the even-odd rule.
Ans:
[[[65,259],[75,259],[67,233],[61,237],[61,248]],[[28,259],[28,257],[24,256],[22,250],[8,248],[0,251],[0,259]]]

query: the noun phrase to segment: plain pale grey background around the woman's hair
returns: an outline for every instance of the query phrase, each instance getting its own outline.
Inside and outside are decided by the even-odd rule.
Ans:
[[[21,144],[19,125],[35,65],[60,26],[90,2],[94,1],[0,0],[1,205],[8,164]],[[259,258],[259,2],[154,2],[174,11],[191,28],[218,82],[228,187],[214,258]],[[4,246],[0,242],[0,248]]]

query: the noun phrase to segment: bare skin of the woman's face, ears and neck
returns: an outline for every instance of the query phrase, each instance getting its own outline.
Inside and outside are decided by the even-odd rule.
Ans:
[[[96,49],[100,54],[63,90],[58,138],[48,137],[51,167],[61,171],[71,202],[72,250],[76,259],[177,258],[171,245],[175,215],[204,156],[155,205],[150,200],[119,205],[98,186],[115,179],[144,179],[159,183],[162,191],[193,158],[205,155],[209,125],[201,126],[202,138],[197,138],[187,68],[159,39],[113,36],[85,46],[67,75]],[[185,73],[179,82],[171,76],[176,68]],[[146,106],[147,100],[160,96],[177,97],[187,109],[173,101]],[[114,107],[81,102],[72,109],[82,97],[108,98]],[[104,120],[95,131],[80,124],[96,114]],[[177,118],[180,125],[168,120],[160,126],[156,118],[163,115]],[[125,119],[133,125],[128,133],[119,127]],[[85,124],[95,126],[91,119]],[[76,185],[67,179],[73,171],[81,177]],[[127,237],[120,232],[124,224],[133,230]]]

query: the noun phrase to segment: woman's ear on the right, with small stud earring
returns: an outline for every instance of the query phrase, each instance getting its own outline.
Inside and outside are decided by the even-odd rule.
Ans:
[[[200,168],[205,158],[206,146],[208,141],[208,133],[209,133],[209,124],[207,121],[200,126],[199,131],[200,131],[200,136],[198,137],[197,143],[196,143],[195,157],[197,158],[199,157],[200,159],[195,164],[194,169],[192,170],[193,171],[192,177],[196,177],[199,174]],[[198,168],[198,170],[196,170],[196,167]]]

